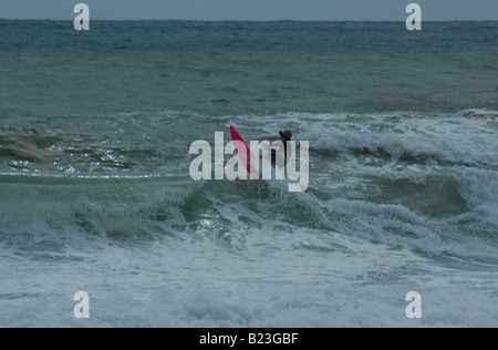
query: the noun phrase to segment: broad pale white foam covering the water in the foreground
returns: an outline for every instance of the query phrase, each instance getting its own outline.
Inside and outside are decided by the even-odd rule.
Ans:
[[[332,251],[297,245],[323,239]],[[333,233],[320,238],[305,228],[252,230],[247,247],[232,254],[187,239],[146,249],[107,246],[66,265],[20,265],[8,290],[0,285],[0,326],[498,326],[496,271],[430,266],[406,250]],[[28,272],[33,268],[40,274]],[[38,292],[22,295],[25,286]],[[89,320],[72,315],[79,290],[90,295]],[[421,320],[405,316],[412,290],[423,298]]]

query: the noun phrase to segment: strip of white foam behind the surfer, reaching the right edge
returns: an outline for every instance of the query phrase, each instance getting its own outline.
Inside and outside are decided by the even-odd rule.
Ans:
[[[297,136],[309,140],[314,150],[382,150],[394,157],[428,156],[497,167],[498,137],[488,125],[497,115],[498,112],[487,110],[447,114],[288,113],[266,117],[266,128],[293,128]]]

